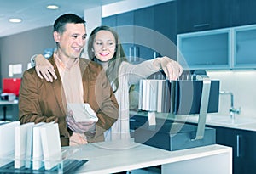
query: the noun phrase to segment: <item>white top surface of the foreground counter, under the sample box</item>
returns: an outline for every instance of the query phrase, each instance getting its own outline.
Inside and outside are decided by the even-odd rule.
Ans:
[[[214,154],[231,153],[232,149],[214,144],[193,149],[167,151],[131,141],[90,143],[71,147],[79,149],[72,158],[89,160],[76,173],[113,173],[138,168],[192,160]]]

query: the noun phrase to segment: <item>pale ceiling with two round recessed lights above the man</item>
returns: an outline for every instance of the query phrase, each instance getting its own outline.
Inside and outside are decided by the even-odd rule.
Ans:
[[[61,14],[84,16],[84,9],[95,8],[120,0],[0,0],[0,37],[53,25]],[[55,4],[57,10],[47,9]],[[21,23],[9,23],[9,18],[21,18]]]

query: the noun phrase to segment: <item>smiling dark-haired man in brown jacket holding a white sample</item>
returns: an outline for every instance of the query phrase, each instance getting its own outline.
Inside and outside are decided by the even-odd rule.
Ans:
[[[79,58],[86,39],[85,21],[63,14],[54,24],[55,53],[49,58],[56,81],[40,79],[34,68],[23,74],[19,96],[19,120],[59,124],[61,146],[70,138],[81,143],[104,141],[103,133],[118,118],[119,105],[101,65]],[[76,122],[68,104],[90,104],[98,121]],[[76,135],[76,136],[72,136]]]

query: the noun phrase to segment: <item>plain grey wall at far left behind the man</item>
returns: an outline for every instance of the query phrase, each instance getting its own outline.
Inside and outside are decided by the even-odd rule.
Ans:
[[[21,64],[23,72],[26,70],[27,64],[30,62],[30,58],[33,54],[44,53],[45,48],[55,48],[52,30],[52,26],[46,26],[11,36],[1,37],[1,77],[9,77],[9,65]],[[13,77],[20,78],[21,76],[22,74],[17,74]]]

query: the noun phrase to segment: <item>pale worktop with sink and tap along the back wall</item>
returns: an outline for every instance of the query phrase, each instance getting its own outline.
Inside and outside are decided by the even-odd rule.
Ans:
[[[130,111],[131,115],[148,116],[148,112]],[[169,113],[155,113],[156,118],[182,121],[188,123],[198,123],[199,115],[172,115]],[[206,126],[222,126],[228,128],[235,128],[247,131],[256,131],[256,119],[248,118],[243,115],[236,115],[235,121],[232,122],[230,116],[222,116],[217,114],[208,114]]]

